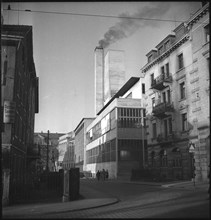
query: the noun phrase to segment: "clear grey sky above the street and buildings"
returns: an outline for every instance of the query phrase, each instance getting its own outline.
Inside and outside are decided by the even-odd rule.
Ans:
[[[4,10],[8,4],[10,11]],[[83,118],[95,117],[97,46],[123,50],[126,81],[140,77],[140,69],[147,63],[146,54],[188,20],[201,4],[14,2],[1,6],[4,24],[33,27],[33,57],[39,77],[35,132],[68,133]]]

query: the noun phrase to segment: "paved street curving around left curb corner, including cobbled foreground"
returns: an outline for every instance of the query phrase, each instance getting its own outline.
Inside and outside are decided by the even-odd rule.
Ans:
[[[206,188],[162,187],[116,181],[81,180],[89,199],[116,197],[119,202],[98,208],[42,214],[36,218],[209,218]],[[30,218],[30,216],[29,216]]]

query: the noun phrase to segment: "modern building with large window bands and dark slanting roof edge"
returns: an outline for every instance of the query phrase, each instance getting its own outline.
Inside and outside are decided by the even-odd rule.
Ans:
[[[109,178],[130,179],[132,169],[144,166],[147,143],[141,96],[140,78],[130,78],[87,127],[85,170],[93,176],[105,169]]]

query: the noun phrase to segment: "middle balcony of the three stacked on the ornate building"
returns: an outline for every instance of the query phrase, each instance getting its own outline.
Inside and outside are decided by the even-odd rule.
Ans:
[[[174,112],[173,103],[170,102],[161,102],[152,109],[153,115],[158,118],[167,117],[169,112]]]

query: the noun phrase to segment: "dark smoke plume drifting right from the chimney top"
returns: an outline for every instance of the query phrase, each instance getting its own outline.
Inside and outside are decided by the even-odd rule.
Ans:
[[[142,19],[131,19],[129,17],[135,18],[158,18],[160,15],[164,15],[170,7],[170,3],[155,3],[155,7],[145,6],[142,9],[139,9],[133,15],[128,13],[122,13],[119,17],[120,21],[114,26],[110,27],[109,30],[104,34],[104,38],[99,41],[100,47],[108,47],[110,44],[115,43],[116,41],[127,38],[134,34],[140,27],[144,26],[158,26],[160,22],[142,20]]]

